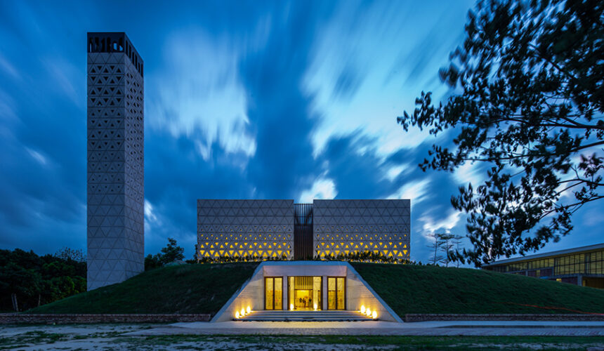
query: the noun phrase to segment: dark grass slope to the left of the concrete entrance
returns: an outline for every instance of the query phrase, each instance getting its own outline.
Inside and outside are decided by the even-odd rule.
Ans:
[[[258,263],[174,265],[138,274],[120,284],[36,307],[28,313],[215,314]]]

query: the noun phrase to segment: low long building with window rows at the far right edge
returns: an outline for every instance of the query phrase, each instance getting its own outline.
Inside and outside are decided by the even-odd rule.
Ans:
[[[499,260],[482,269],[604,289],[604,244]]]

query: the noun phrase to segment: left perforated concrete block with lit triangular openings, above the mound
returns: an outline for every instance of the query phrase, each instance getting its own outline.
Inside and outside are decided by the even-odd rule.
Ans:
[[[294,200],[197,200],[197,257],[291,259]]]

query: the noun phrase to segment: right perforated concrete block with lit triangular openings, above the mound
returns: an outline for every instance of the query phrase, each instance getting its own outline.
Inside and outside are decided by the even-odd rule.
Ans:
[[[315,257],[371,251],[409,259],[411,201],[313,201]]]

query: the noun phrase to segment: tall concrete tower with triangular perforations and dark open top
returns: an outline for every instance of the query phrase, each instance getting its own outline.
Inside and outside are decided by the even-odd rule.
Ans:
[[[123,32],[88,33],[88,290],[143,272],[143,59]]]

